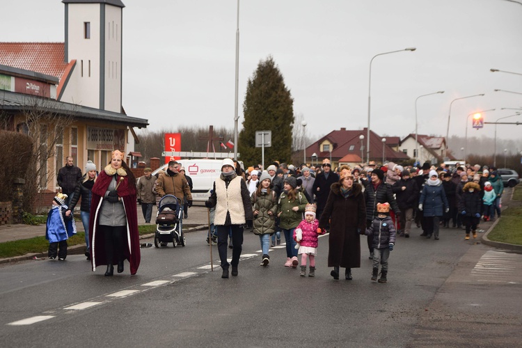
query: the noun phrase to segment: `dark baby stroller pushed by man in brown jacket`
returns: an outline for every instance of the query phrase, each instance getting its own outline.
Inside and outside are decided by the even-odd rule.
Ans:
[[[165,195],[161,197],[156,215],[157,227],[154,237],[156,248],[159,247],[158,244],[166,243],[172,243],[174,247],[177,244],[185,246],[186,240],[182,231],[181,214],[183,214],[183,209],[176,196]]]

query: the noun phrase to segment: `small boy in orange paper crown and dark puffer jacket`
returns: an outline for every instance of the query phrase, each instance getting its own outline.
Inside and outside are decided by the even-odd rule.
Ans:
[[[395,245],[395,225],[390,218],[390,203],[377,203],[377,216],[366,229],[365,234],[372,238],[374,248],[372,280],[377,280],[379,263],[381,278],[379,283],[386,283],[388,275],[388,258]]]

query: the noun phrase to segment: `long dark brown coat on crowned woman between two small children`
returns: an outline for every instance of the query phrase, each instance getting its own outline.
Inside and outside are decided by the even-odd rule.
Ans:
[[[364,196],[360,184],[354,184],[347,198],[340,184],[332,184],[326,205],[319,219],[319,228],[330,223],[328,267],[361,267],[359,233],[366,226]]]

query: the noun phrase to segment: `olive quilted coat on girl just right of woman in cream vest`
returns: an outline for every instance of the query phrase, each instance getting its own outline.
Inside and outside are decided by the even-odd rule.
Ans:
[[[277,195],[274,191],[262,192],[258,195],[257,190],[252,193],[251,202],[254,215],[253,232],[255,235],[266,235],[276,232],[276,214],[278,207]],[[268,212],[272,212],[271,215]]]

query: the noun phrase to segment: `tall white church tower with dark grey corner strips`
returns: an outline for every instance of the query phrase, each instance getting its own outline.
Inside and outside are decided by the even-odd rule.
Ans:
[[[58,100],[122,112],[120,0],[63,0],[65,61],[76,64]],[[65,76],[65,75],[64,75]]]

